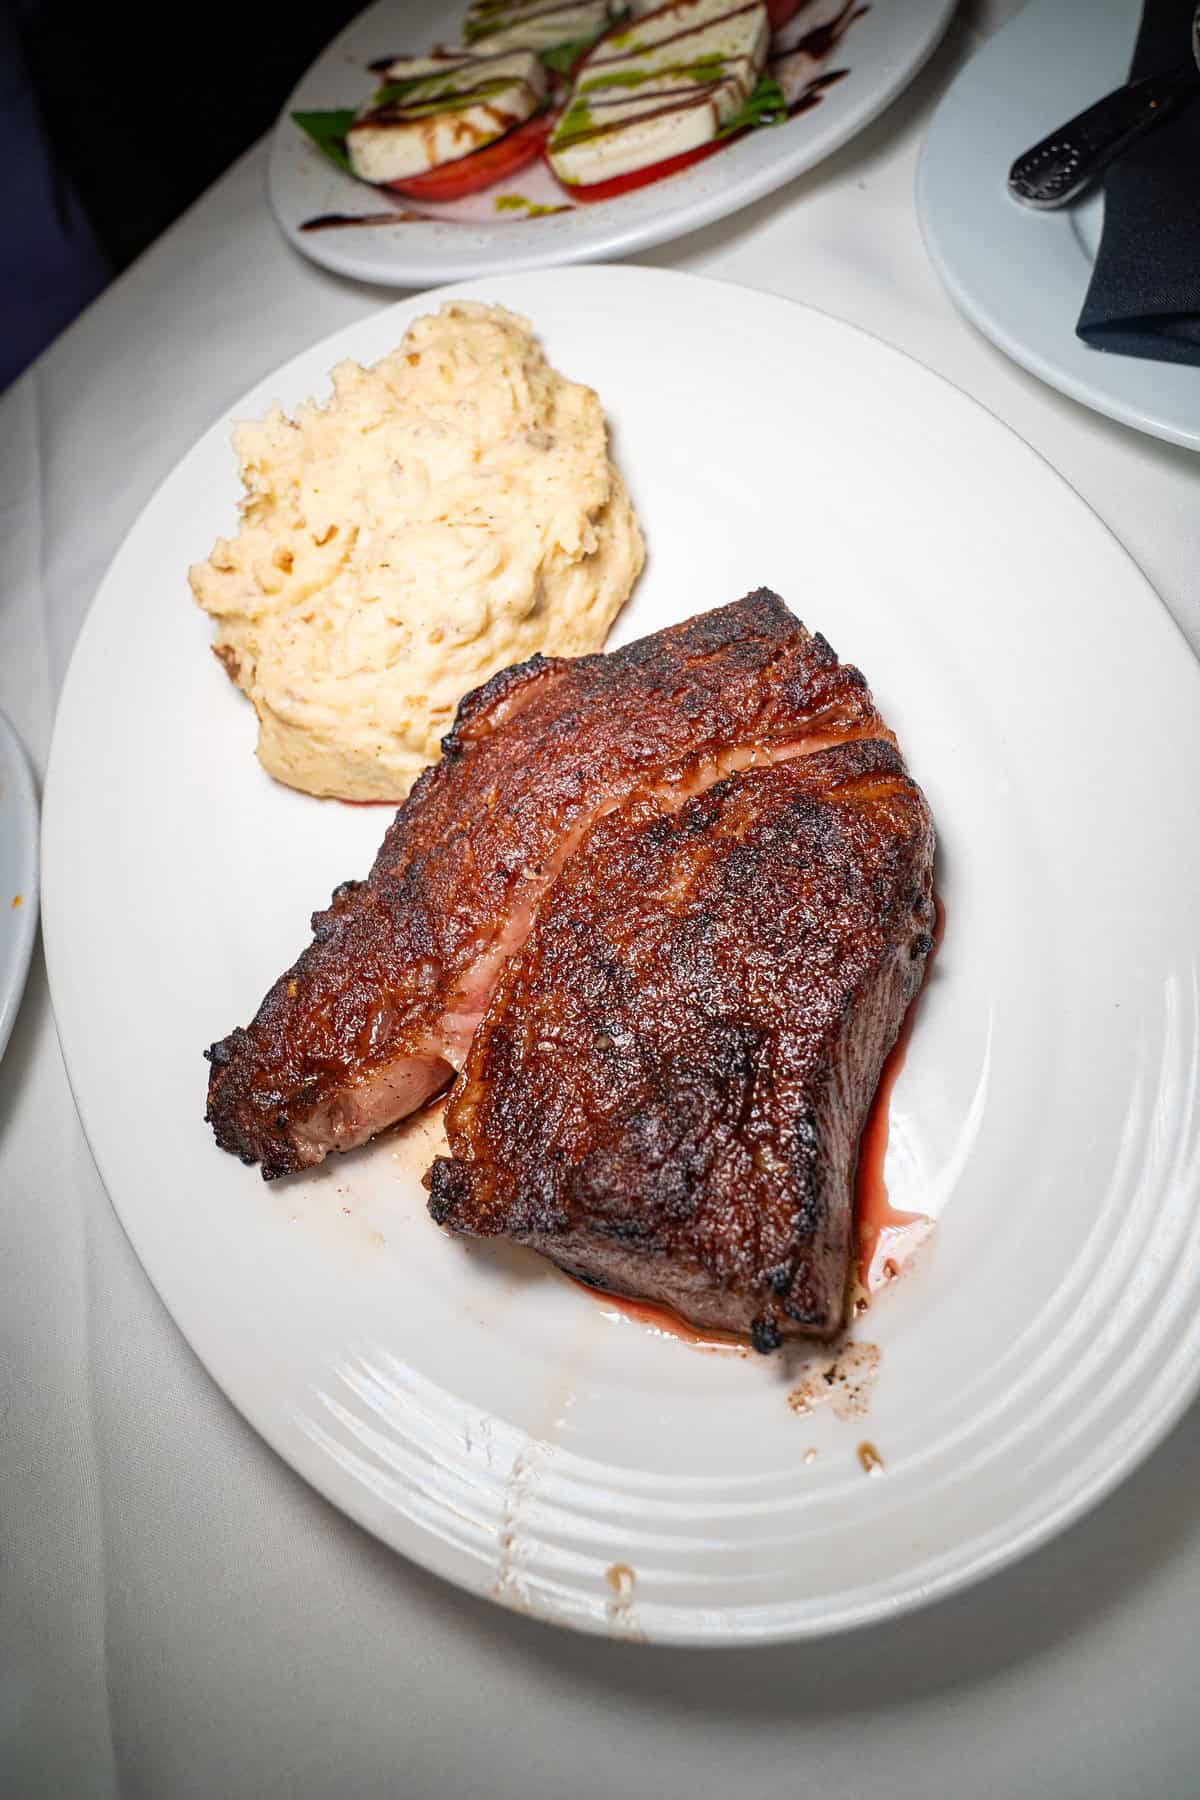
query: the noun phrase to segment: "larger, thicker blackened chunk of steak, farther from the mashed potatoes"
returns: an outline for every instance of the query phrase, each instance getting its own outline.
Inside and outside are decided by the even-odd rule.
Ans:
[[[932,945],[932,855],[883,742],[601,819],[479,1028],[434,1219],[759,1350],[835,1334],[858,1136]]]

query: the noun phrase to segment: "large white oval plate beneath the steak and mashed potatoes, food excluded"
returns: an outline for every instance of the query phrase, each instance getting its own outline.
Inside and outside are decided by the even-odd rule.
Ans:
[[[275,787],[209,655],[185,569],[234,524],[230,418],[119,551],[59,706],[43,907],[83,1123],[216,1381],[389,1544],[657,1642],[883,1618],[1076,1517],[1196,1386],[1200,675],[1083,502],[874,338],[640,268],[450,292],[527,311],[603,396],[649,545],[617,639],[774,583],[867,671],[928,792],[948,925],[887,1172],[937,1228],[858,1325],[871,1408],[797,1413],[783,1357],[693,1350],[529,1253],[444,1237],[430,1125],[273,1186],[214,1148],[203,1046],[389,817]],[[234,414],[324,394],[441,299],[327,338]]]

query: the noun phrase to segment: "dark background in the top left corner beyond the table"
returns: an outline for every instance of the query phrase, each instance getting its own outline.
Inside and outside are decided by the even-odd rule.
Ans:
[[[0,389],[270,130],[358,11],[0,0]]]

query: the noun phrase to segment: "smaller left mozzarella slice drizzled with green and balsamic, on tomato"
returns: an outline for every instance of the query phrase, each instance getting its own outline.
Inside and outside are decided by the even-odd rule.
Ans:
[[[425,65],[435,61],[435,70]],[[531,50],[513,56],[398,58],[385,83],[414,85],[363,112],[345,133],[351,167],[363,182],[403,182],[457,162],[529,119],[545,97],[547,72]]]

